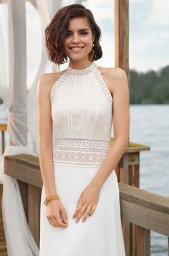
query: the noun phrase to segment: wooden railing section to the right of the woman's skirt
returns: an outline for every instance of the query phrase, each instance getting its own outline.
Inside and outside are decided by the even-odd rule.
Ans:
[[[169,197],[126,184],[119,184],[119,188],[122,219],[137,225],[135,255],[149,256],[150,230],[169,237]]]

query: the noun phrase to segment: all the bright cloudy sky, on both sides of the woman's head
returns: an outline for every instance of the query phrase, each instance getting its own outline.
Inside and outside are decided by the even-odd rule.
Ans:
[[[169,65],[169,0],[129,0],[130,6],[130,69],[139,72],[159,70]],[[71,4],[71,0],[65,0]],[[97,61],[102,67],[114,67],[114,1],[86,0],[102,32],[103,56]],[[1,10],[0,10],[1,11]],[[28,82],[33,80],[41,57],[39,15],[26,2],[26,45]],[[61,65],[61,70],[67,64]]]

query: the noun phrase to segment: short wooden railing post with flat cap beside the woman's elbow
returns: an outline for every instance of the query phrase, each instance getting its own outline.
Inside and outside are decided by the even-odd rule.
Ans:
[[[113,145],[113,138],[110,139],[110,146]],[[140,152],[150,151],[149,146],[129,142],[125,153],[115,168],[119,183],[130,186],[140,186]],[[127,221],[122,222],[125,237],[125,248],[127,255],[137,255],[137,227]]]

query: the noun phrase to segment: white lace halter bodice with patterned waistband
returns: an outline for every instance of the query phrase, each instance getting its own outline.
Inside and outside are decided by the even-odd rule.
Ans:
[[[95,62],[67,71],[51,94],[53,163],[100,166],[110,149],[112,96]]]

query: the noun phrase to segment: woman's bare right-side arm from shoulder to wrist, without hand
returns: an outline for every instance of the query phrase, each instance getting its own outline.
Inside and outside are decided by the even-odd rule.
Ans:
[[[107,80],[112,85],[114,140],[102,166],[91,181],[91,184],[98,189],[102,188],[107,177],[117,166],[129,139],[130,98],[127,76],[124,70],[115,68],[107,72]]]

